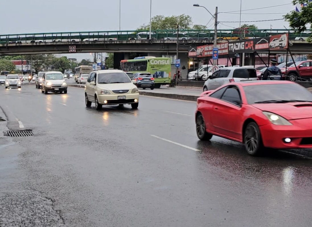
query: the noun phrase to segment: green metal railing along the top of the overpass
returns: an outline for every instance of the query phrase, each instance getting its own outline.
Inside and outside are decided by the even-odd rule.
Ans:
[[[264,37],[280,33],[290,34],[290,39],[305,39],[311,35],[311,31],[295,33],[285,29],[219,29],[219,40],[237,40],[244,37]],[[153,40],[177,40],[177,30],[153,30]],[[180,30],[179,40],[213,40],[214,30]],[[149,31],[78,31],[78,32],[49,32],[49,33],[25,33],[0,35],[0,44],[22,43],[49,43],[49,42],[96,42],[96,41],[127,41],[149,39]]]

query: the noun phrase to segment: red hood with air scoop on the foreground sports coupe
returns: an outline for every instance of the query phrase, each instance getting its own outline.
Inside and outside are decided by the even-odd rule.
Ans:
[[[312,118],[312,102],[253,104],[252,106],[278,114],[287,120]]]

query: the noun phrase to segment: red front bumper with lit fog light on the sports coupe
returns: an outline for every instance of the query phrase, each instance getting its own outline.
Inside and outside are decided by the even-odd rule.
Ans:
[[[312,118],[289,122],[293,125],[260,126],[263,145],[275,149],[312,148]],[[291,142],[285,142],[285,138]]]

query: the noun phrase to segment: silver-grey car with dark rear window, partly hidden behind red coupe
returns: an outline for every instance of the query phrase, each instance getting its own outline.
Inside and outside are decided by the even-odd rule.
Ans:
[[[231,83],[259,80],[257,77],[256,69],[253,67],[226,67],[216,70],[211,79],[208,79],[204,86],[203,91],[214,90],[218,87]]]

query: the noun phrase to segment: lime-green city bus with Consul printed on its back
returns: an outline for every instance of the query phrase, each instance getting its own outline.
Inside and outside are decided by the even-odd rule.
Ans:
[[[154,77],[155,88],[169,85],[171,82],[171,59],[158,57],[136,57],[132,60],[121,60],[121,69],[129,73],[150,73]]]

